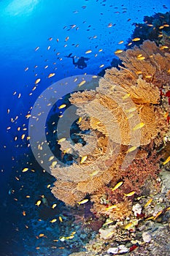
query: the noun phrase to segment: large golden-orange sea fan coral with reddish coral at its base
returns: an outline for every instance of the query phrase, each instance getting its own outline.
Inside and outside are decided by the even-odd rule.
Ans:
[[[131,214],[132,200],[141,195],[147,178],[158,187],[157,149],[169,129],[169,102],[163,95],[169,91],[170,42],[166,46],[147,40],[117,53],[123,61],[120,69],[107,69],[96,90],[72,94],[79,127],[90,134],[83,135],[85,146],[60,142],[62,151],[69,148],[69,154],[80,156],[77,163],[51,167],[57,179],[52,192],[66,205],[78,205],[90,195],[96,216],[123,219]],[[131,162],[123,168],[127,154]]]

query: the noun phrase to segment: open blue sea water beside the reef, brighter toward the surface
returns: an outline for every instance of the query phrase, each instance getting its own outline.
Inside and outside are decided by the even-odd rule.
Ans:
[[[28,140],[22,138],[23,134],[28,136],[26,115],[42,91],[56,81],[85,73],[98,75],[102,68],[109,67],[114,51],[123,49],[131,37],[133,23],[142,23],[146,15],[169,11],[170,2],[2,0],[0,10],[0,255],[69,255],[78,252],[79,246],[74,248],[71,242],[62,246],[61,241],[55,245],[54,240],[64,232],[69,236],[71,230],[64,230],[59,221],[50,222],[67,211],[63,203],[57,202],[55,211],[45,204],[41,209],[35,206],[41,195],[45,195],[47,205],[55,203],[47,189],[54,178],[32,162]],[[118,45],[120,40],[124,43]],[[76,67],[72,58],[66,58],[71,53],[76,61],[81,56],[88,58],[87,67]],[[55,75],[48,78],[51,73]],[[37,79],[40,82],[34,89]],[[63,90],[63,96],[65,93]],[[39,172],[35,175],[32,171],[24,178],[21,170],[26,163]],[[69,219],[68,213],[66,216]],[[47,238],[40,241],[39,234],[45,232]]]

